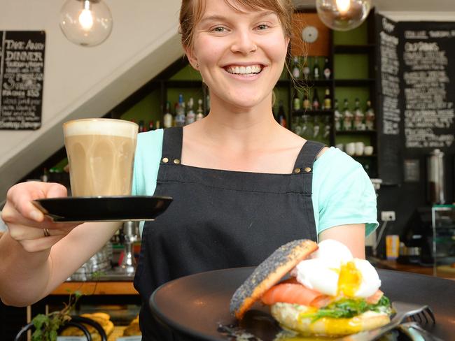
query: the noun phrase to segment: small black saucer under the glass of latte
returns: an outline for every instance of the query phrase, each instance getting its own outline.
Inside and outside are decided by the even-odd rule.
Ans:
[[[34,204],[55,222],[125,222],[155,219],[171,201],[167,196],[80,196],[39,199]]]

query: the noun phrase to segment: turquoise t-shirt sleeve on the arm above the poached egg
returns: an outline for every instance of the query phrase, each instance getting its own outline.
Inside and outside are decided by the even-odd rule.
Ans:
[[[361,164],[331,147],[316,160],[313,177],[318,234],[346,224],[365,224],[365,235],[377,228],[376,193]]]

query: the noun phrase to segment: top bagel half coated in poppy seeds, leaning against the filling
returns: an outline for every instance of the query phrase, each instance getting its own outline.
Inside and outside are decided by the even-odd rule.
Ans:
[[[231,314],[241,319],[265,291],[316,249],[316,242],[307,239],[293,240],[276,249],[235,291],[230,301]]]

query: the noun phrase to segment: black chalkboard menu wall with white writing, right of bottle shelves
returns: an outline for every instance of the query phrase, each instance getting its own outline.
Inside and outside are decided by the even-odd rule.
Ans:
[[[376,18],[379,176],[400,183],[403,160],[455,152],[455,22]],[[451,167],[450,167],[451,168]]]

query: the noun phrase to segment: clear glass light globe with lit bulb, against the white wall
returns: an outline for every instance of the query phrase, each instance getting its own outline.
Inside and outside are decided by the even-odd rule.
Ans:
[[[60,10],[60,28],[72,43],[99,45],[111,34],[111,11],[102,0],[67,0]]]

